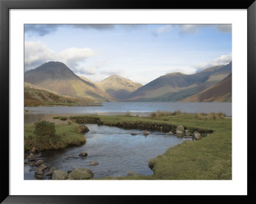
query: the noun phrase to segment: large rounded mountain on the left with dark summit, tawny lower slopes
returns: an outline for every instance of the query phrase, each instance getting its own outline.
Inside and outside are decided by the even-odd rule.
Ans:
[[[77,98],[92,98],[100,101],[114,100],[105,91],[90,81],[81,79],[65,64],[49,61],[24,74],[24,81],[47,90]]]

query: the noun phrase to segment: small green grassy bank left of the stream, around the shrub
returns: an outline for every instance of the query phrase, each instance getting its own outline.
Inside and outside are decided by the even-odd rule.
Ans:
[[[72,145],[82,145],[86,139],[83,134],[79,134],[79,125],[69,123],[55,125],[54,136],[37,136],[34,133],[34,124],[24,125],[24,150],[29,151],[34,146],[38,152],[47,150],[59,150]]]

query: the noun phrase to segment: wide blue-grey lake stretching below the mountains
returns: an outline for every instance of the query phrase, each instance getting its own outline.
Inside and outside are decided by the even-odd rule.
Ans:
[[[226,102],[103,102],[103,106],[85,106],[85,107],[25,107],[27,111],[33,111],[31,114],[125,114],[130,111],[132,114],[147,116],[150,112],[177,111],[186,113],[218,113],[223,112],[227,116],[232,116],[232,103]]]

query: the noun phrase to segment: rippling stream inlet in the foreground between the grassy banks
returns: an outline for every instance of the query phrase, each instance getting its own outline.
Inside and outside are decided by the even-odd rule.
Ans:
[[[90,131],[85,134],[86,143],[83,146],[42,153],[45,164],[64,171],[88,168],[92,170],[94,178],[125,176],[129,171],[135,171],[140,175],[152,175],[153,171],[148,168],[148,160],[163,154],[170,146],[184,141],[184,138],[166,136],[163,132],[150,132],[148,136],[143,136],[141,130],[85,125]],[[132,136],[132,132],[138,135]],[[82,151],[86,151],[88,156],[79,157]],[[91,161],[99,162],[99,165],[90,166]],[[29,169],[30,166],[24,166],[24,179],[36,179],[35,171]]]

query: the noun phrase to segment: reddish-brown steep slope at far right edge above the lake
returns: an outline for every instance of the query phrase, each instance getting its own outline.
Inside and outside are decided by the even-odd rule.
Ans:
[[[179,102],[232,102],[232,74],[218,84]]]

